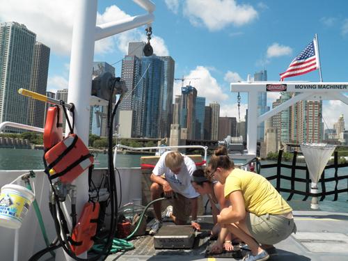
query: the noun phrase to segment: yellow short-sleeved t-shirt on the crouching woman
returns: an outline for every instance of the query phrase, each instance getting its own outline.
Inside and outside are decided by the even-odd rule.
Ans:
[[[230,193],[237,190],[242,191],[246,211],[257,216],[292,211],[271,182],[262,175],[235,168],[226,179],[224,195],[228,198]]]

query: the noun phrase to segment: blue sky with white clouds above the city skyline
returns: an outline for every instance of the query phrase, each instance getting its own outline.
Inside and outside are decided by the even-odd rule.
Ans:
[[[267,70],[268,79],[279,80],[292,59],[313,39],[319,38],[324,81],[348,81],[348,1],[292,0],[154,0],[155,22],[152,45],[158,55],[175,60],[175,77],[191,81],[207,103],[221,104],[221,116],[237,116],[237,94],[230,82],[245,80]],[[37,34],[51,47],[48,90],[68,87],[74,0],[0,0],[0,22],[16,21]],[[98,1],[97,24],[111,22],[145,11],[130,0]],[[116,67],[127,52],[127,42],[145,40],[145,27],[96,42],[95,61]],[[296,81],[319,81],[318,71]],[[189,84],[189,80],[184,84]],[[175,81],[180,93],[181,81]],[[347,95],[347,94],[346,94]],[[268,102],[278,96],[268,97]],[[246,95],[242,95],[242,117]],[[340,101],[324,102],[324,120],[332,127],[348,106]]]

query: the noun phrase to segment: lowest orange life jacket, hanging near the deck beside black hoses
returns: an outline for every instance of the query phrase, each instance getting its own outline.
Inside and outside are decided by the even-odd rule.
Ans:
[[[86,203],[82,209],[79,222],[77,222],[74,230],[72,230],[71,248],[75,255],[81,255],[88,251],[94,244],[93,237],[97,231],[97,219],[99,216],[99,203]]]

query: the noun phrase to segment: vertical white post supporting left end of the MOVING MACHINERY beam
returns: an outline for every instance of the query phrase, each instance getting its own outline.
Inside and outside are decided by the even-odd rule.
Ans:
[[[256,155],[258,143],[258,91],[248,93],[248,126],[246,148],[248,154]]]

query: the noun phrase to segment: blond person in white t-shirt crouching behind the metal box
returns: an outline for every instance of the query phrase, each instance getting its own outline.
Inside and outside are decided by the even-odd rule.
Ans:
[[[191,214],[191,226],[200,230],[196,221],[199,193],[191,185],[191,175],[195,170],[196,165],[189,157],[180,152],[165,152],[152,171],[150,191],[152,200],[160,198],[163,193],[166,197],[176,193],[173,207],[167,207],[166,216],[171,217],[177,225],[186,225]],[[156,220],[151,226],[150,235],[155,235],[162,226],[161,201],[154,203],[154,210]]]

